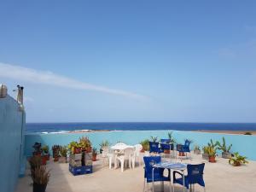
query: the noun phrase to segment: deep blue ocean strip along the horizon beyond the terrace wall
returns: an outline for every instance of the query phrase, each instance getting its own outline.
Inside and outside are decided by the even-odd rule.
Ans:
[[[56,133],[79,130],[109,131],[256,131],[256,123],[27,123],[26,133]]]

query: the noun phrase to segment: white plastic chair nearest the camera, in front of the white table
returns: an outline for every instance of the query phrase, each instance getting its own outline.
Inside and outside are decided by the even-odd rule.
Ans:
[[[119,166],[119,162],[121,164],[121,172],[124,172],[125,163],[128,161],[129,168],[131,168],[131,161],[134,158],[135,148],[125,148],[124,154],[117,154],[115,157],[115,164]]]

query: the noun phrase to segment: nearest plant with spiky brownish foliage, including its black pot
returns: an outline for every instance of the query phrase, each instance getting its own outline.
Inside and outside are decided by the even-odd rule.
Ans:
[[[38,166],[32,171],[33,192],[45,192],[49,182],[49,171],[46,166]]]

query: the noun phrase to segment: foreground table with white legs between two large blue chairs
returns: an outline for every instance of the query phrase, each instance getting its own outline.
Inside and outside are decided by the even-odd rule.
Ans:
[[[176,170],[176,171],[181,171],[183,172],[183,192],[185,191],[185,176],[184,176],[184,171],[187,169],[186,164],[182,163],[171,163],[171,162],[160,162],[157,163],[153,166],[152,169],[152,183],[153,183],[153,192],[154,192],[154,168],[163,168],[163,169],[169,169],[170,174],[171,170]],[[170,177],[171,179],[172,177]],[[171,182],[171,181],[170,181]],[[172,183],[173,184],[173,183]],[[171,185],[170,185],[170,192],[172,191]]]

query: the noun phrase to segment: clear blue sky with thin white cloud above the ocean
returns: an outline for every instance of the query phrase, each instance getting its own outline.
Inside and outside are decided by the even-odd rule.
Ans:
[[[28,122],[256,122],[255,1],[0,3]]]

